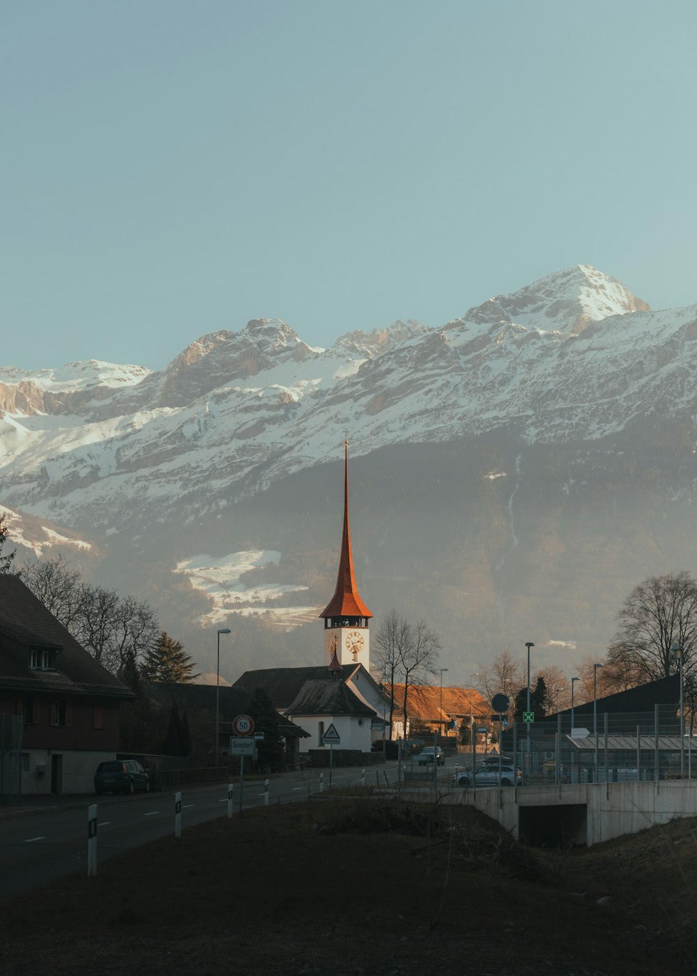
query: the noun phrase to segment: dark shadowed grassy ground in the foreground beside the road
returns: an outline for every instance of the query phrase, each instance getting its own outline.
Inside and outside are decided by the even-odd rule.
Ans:
[[[212,821],[3,906],[5,976],[697,974],[697,820],[530,850],[469,807]]]

